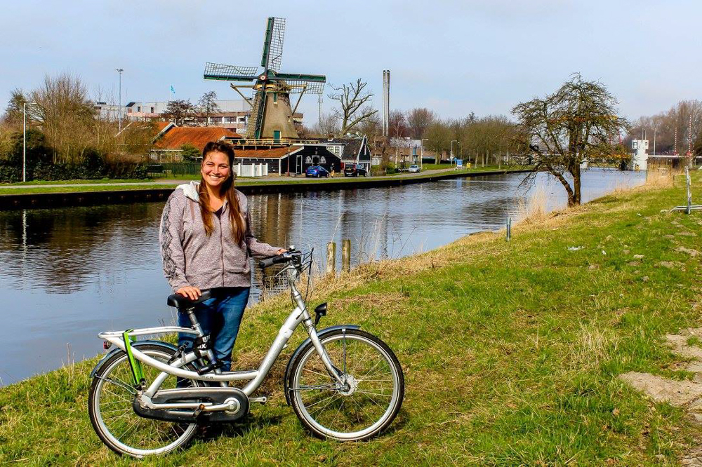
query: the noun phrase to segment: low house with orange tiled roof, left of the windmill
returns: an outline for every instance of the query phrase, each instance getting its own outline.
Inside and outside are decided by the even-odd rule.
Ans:
[[[174,123],[157,122],[160,131],[154,138],[151,158],[159,162],[183,161],[183,146],[188,144],[202,152],[205,144],[211,141],[224,141],[227,138],[240,138],[232,130],[218,126],[187,127]]]

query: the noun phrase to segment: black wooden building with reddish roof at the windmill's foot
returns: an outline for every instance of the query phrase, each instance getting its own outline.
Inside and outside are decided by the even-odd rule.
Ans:
[[[340,172],[341,159],[327,149],[326,144],[290,144],[253,146],[238,144],[234,146],[237,162],[244,165],[266,164],[268,174],[303,174],[310,165],[322,165],[331,172]]]

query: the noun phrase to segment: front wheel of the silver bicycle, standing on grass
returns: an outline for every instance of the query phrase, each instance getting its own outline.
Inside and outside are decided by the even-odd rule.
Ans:
[[[293,410],[314,435],[340,441],[372,438],[402,406],[404,376],[395,353],[373,334],[336,330],[320,338],[343,384],[327,372],[308,343],[293,362]]]

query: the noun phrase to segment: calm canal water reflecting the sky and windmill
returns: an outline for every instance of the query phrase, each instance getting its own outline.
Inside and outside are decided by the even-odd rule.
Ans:
[[[274,246],[352,244],[352,262],[431,250],[515,215],[524,175],[446,180],[387,189],[249,196],[253,231]],[[634,172],[589,170],[583,202],[643,182]],[[564,189],[539,174],[548,208]],[[0,295],[6,326],[0,385],[102,351],[97,333],[171,323],[158,227],[163,203],[0,212]],[[340,261],[340,258],[338,259]],[[254,273],[252,301],[260,272]]]

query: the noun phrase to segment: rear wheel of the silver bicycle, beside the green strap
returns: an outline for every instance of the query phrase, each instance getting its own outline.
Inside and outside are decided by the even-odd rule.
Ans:
[[[152,358],[168,361],[175,351],[159,344],[143,344],[139,351]],[[142,365],[147,385],[161,371]],[[190,380],[192,386],[199,381]],[[175,388],[176,377],[169,375],[162,389]],[[95,374],[88,396],[88,413],[100,440],[117,454],[141,458],[151,454],[165,454],[190,442],[197,424],[146,419],[137,415],[132,402],[136,394],[132,384],[131,367],[124,351],[115,353]]]

